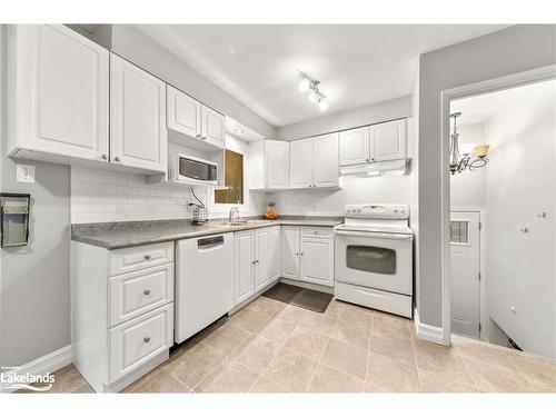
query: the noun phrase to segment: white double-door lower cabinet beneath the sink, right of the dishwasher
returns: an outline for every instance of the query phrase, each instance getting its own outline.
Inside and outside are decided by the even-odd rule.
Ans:
[[[237,231],[236,306],[280,278],[280,227]]]

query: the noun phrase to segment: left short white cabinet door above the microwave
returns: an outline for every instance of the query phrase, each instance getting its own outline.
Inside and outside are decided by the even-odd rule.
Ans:
[[[185,92],[167,86],[168,129],[200,139],[201,103]]]

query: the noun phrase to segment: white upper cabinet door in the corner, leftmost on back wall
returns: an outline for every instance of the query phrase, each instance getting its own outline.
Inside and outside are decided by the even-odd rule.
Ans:
[[[289,142],[265,140],[265,188],[289,188]]]

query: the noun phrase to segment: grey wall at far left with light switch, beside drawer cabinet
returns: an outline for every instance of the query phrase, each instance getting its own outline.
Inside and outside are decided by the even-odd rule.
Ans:
[[[4,29],[0,29],[3,120]],[[0,364],[16,366],[70,344],[69,168],[31,162],[37,182],[16,182],[16,162],[6,156],[6,123],[2,127],[1,191],[32,195],[29,246],[0,251]]]

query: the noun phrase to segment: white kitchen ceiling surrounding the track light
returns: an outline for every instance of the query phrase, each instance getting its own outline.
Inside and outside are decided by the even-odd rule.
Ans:
[[[328,112],[411,92],[419,54],[496,24],[138,24],[274,126],[320,116],[298,70],[321,81]]]

